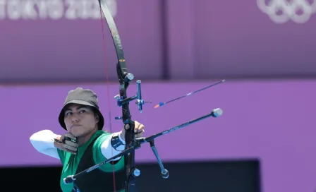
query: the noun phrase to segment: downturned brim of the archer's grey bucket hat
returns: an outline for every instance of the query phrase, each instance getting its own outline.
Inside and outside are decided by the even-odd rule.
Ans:
[[[65,129],[67,131],[66,124],[64,123],[64,120],[63,120],[64,119],[63,109],[65,109],[66,105],[68,105],[68,104],[83,104],[83,105],[93,107],[95,109],[95,112],[99,115],[98,129],[102,130],[102,128],[104,126],[104,117],[103,117],[102,113],[99,111],[99,109],[97,109],[97,107],[95,107],[94,105],[90,104],[89,102],[85,102],[83,100],[71,100],[71,101],[63,104],[63,108],[61,109],[61,112],[59,113],[59,118],[58,118],[59,124],[61,125],[61,127],[63,129]]]

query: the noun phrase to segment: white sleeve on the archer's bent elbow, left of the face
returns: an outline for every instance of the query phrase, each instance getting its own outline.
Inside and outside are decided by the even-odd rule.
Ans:
[[[32,134],[30,142],[38,152],[59,159],[57,148],[54,146],[54,138],[57,136],[50,130],[42,130]]]

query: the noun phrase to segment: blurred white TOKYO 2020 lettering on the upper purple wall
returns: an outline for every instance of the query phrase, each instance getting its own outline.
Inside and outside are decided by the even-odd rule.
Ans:
[[[106,2],[115,17],[116,0]],[[0,19],[100,19],[100,8],[97,0],[0,0]]]

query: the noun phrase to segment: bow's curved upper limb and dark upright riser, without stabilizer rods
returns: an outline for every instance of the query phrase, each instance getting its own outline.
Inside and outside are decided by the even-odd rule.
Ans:
[[[116,72],[117,77],[119,78],[119,101],[123,101],[128,99],[127,97],[127,89],[128,85],[131,80],[133,80],[134,76],[131,73],[128,73],[127,67],[126,67],[126,59],[123,52],[123,46],[121,44],[121,38],[119,36],[119,31],[116,28],[116,24],[114,22],[114,18],[111,16],[111,13],[109,11],[109,8],[107,4],[105,3],[105,0],[98,0],[99,5],[101,8],[101,11],[107,20],[107,25],[109,26],[109,30],[111,32],[111,36],[114,42],[114,46],[116,49],[116,56],[118,59],[118,63],[116,64]],[[103,24],[102,24],[103,29]],[[107,75],[108,77],[108,75]],[[109,83],[108,83],[109,85]],[[109,90],[108,90],[109,93]],[[119,103],[119,102],[118,102]],[[130,116],[130,109],[129,109],[129,102],[121,102],[119,104],[122,107],[122,116],[121,118],[123,120],[124,127],[128,124],[130,128],[126,131],[126,148],[128,148],[129,145],[133,144],[135,133],[135,123],[131,119]],[[111,118],[111,117],[110,117]],[[125,169],[126,169],[126,183],[125,183],[125,190],[126,192],[134,192],[135,191],[135,178],[131,176],[133,169],[135,167],[135,150],[130,152],[128,155],[125,155]],[[114,191],[115,191],[115,171],[114,171]]]

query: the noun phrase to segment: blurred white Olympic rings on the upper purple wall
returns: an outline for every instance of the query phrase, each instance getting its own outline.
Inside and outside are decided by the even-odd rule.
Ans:
[[[279,24],[288,20],[306,23],[316,13],[316,0],[257,0],[257,6]]]

